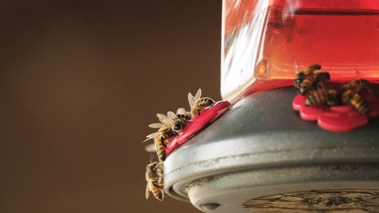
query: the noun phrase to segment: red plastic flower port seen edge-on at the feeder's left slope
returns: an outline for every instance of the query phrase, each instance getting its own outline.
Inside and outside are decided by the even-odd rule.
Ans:
[[[228,101],[219,101],[211,108],[206,108],[200,112],[200,116],[195,115],[191,118],[184,129],[167,144],[166,154],[169,155],[183,143],[199,133],[208,124],[220,117],[230,106]]]

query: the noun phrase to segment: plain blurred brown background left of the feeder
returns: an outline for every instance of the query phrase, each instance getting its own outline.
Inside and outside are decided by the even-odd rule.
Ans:
[[[2,1],[0,212],[200,212],[145,199],[141,141],[188,92],[220,100],[221,13],[221,0]]]

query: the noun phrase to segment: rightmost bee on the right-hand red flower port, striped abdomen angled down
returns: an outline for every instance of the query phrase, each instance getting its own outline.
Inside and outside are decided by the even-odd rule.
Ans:
[[[340,92],[340,98],[343,104],[350,105],[360,111],[362,114],[370,114],[370,106],[368,101],[358,94],[362,89],[366,89],[370,84],[365,79],[352,80]]]

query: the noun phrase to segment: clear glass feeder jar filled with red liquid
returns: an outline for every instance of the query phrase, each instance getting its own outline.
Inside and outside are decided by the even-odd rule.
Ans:
[[[333,82],[379,83],[378,0],[224,0],[221,95],[293,84],[319,64]]]

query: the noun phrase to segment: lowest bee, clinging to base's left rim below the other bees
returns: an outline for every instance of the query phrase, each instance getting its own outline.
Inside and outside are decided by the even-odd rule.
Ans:
[[[145,177],[147,181],[146,199],[149,198],[150,192],[152,192],[156,199],[163,200],[163,162],[152,162],[148,164],[146,166]]]

